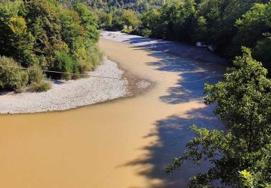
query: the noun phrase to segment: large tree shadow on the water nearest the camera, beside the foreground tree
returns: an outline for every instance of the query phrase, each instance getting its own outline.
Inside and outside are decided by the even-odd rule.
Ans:
[[[144,139],[156,139],[156,142],[141,148],[147,151],[147,155],[127,162],[124,167],[138,167],[140,176],[147,177],[149,180],[159,180],[160,183],[149,185],[149,187],[187,187],[189,178],[200,171],[205,171],[209,164],[203,162],[198,167],[191,162],[185,162],[182,171],[169,175],[165,173],[165,169],[174,157],[180,156],[185,151],[185,144],[193,138],[194,132],[189,129],[192,124],[208,129],[223,129],[223,124],[217,120],[212,111],[214,111],[214,106],[205,106],[189,111],[185,115],[171,115],[164,120],[158,120],[155,123],[156,129],[144,136]],[[146,169],[149,165],[151,168]]]

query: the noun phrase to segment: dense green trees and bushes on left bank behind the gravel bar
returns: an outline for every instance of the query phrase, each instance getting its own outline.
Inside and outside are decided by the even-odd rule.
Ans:
[[[93,12],[83,3],[0,3],[0,88],[22,91],[30,86],[33,91],[46,91],[50,84],[45,77],[71,79],[91,71],[101,59],[99,33]],[[67,74],[44,75],[40,69]]]

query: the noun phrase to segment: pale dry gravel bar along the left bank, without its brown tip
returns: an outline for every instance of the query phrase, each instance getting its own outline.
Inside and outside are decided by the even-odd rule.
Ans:
[[[47,92],[1,93],[0,113],[64,111],[124,97],[129,94],[129,91],[127,90],[127,79],[123,77],[123,74],[124,72],[118,68],[118,64],[104,58],[102,65],[88,73],[90,77],[53,81],[52,88]]]

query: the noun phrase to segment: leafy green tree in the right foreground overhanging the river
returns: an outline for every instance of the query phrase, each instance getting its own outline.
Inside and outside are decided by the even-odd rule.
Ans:
[[[209,161],[212,167],[191,178],[189,187],[216,187],[217,181],[222,186],[245,187],[245,171],[253,174],[259,187],[271,182],[271,79],[250,50],[242,49],[243,57],[236,57],[225,81],[205,85],[205,103],[217,104],[214,113],[227,131],[191,126],[196,136],[183,156],[167,166],[171,173],[180,170],[185,160]]]

